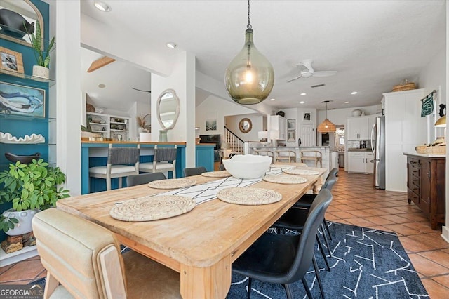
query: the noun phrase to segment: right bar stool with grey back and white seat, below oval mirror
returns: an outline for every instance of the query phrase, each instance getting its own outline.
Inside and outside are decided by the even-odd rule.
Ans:
[[[154,145],[154,157],[152,162],[141,163],[139,171],[142,173],[165,173],[173,172],[173,178],[176,178],[176,155],[175,147],[157,147]]]

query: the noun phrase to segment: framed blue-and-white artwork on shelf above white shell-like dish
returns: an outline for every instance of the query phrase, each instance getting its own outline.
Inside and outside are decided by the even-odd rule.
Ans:
[[[29,117],[45,117],[45,90],[0,82],[0,111]]]

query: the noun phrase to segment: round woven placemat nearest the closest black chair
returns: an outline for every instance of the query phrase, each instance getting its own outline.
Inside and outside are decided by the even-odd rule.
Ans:
[[[260,204],[272,204],[282,199],[282,194],[274,190],[253,187],[232,187],[220,190],[218,199],[229,204],[242,204],[256,206]]]

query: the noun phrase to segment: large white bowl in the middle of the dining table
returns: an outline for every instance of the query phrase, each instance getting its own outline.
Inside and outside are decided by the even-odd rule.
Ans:
[[[234,178],[262,178],[272,164],[272,157],[236,154],[231,159],[224,159],[223,164]]]

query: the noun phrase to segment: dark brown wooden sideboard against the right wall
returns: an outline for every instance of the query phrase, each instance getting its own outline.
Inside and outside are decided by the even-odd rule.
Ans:
[[[445,222],[444,155],[407,154],[407,198],[430,219],[431,228]]]

